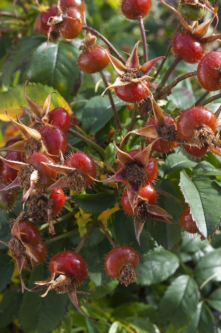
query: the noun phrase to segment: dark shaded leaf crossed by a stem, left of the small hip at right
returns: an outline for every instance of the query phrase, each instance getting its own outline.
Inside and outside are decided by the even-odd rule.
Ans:
[[[174,196],[177,196],[173,186],[167,180],[159,182],[157,187]],[[159,195],[158,205],[164,208],[173,217],[171,219],[172,223],[179,221],[181,208],[176,202],[164,195]],[[158,220],[156,220],[156,222],[150,220],[147,222],[147,224],[148,230],[154,240],[156,240],[159,245],[164,246],[168,250],[171,250],[180,239],[181,231],[179,224],[171,225]]]

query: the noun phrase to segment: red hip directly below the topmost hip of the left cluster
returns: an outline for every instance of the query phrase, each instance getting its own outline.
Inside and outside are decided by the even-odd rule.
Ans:
[[[60,128],[53,129],[45,125],[39,129],[39,133],[46,144],[49,154],[58,155],[58,148],[60,148],[63,155],[65,154],[67,140],[64,132]],[[55,162],[59,161],[58,157],[52,158]]]

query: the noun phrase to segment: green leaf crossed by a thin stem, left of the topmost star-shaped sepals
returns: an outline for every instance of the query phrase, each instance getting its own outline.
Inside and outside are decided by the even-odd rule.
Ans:
[[[115,96],[113,96],[113,99],[117,110],[119,110],[124,104]],[[93,135],[101,130],[113,116],[108,96],[94,96],[84,106],[82,113],[83,129],[86,133]]]

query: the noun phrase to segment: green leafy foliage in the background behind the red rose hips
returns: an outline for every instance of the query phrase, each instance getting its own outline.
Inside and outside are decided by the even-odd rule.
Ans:
[[[24,2],[24,1],[23,1]],[[220,2],[220,1],[219,1]],[[175,6],[176,2],[171,1]],[[118,5],[114,0],[85,1],[87,22],[105,35],[118,49],[130,53],[139,40],[138,24],[119,15]],[[218,3],[221,6],[221,3]],[[72,105],[75,116],[82,124],[82,130],[100,145],[105,144],[114,121],[109,100],[102,98],[102,83],[94,91],[99,75],[82,75],[76,64],[78,43],[83,34],[72,44],[65,41],[50,42],[46,54],[46,37],[34,36],[32,26],[38,14],[34,1],[28,2],[29,15],[26,26],[15,25],[10,37],[3,34],[0,38],[0,119],[5,120],[5,110],[9,107],[26,106],[22,87],[25,79],[31,76],[27,91],[33,100],[43,105],[45,97],[56,90],[52,96],[53,106],[68,108]],[[21,6],[16,5],[19,15],[23,15]],[[1,11],[13,12],[12,2],[2,0]],[[209,14],[208,14],[209,15]],[[207,16],[208,16],[207,15]],[[145,18],[149,57],[153,59],[165,54],[168,41],[173,35],[177,20],[160,2],[153,2],[152,11]],[[211,28],[212,30],[212,28]],[[218,26],[220,32],[220,23]],[[24,37],[22,37],[24,35]],[[17,37],[19,38],[17,38]],[[209,46],[216,49],[218,43]],[[139,46],[142,54],[142,46]],[[126,58],[127,56],[123,54]],[[161,75],[171,64],[169,56]],[[192,71],[195,65],[181,62],[169,81],[176,76]],[[109,81],[115,74],[109,65],[106,68]],[[204,90],[196,79],[180,82],[161,107],[168,113],[177,115],[180,108],[190,107],[203,94]],[[213,93],[212,93],[213,94]],[[120,120],[130,123],[130,111],[126,105],[115,99]],[[208,107],[216,111],[221,100],[216,100]],[[17,110],[17,113],[19,110]],[[3,144],[2,124],[1,140]],[[136,126],[141,125],[140,120]],[[126,128],[124,129],[126,133]],[[120,137],[115,132],[114,140]],[[127,148],[137,146],[140,138],[130,138]],[[106,148],[101,156],[80,139],[68,135],[68,142],[76,148],[88,151],[94,158],[114,166],[115,152],[113,144]],[[190,158],[176,149],[165,156],[159,164],[157,187],[190,204],[194,217],[202,216],[199,229],[211,234],[221,216],[220,160],[208,153],[202,161]],[[189,177],[191,176],[191,178]],[[180,192],[180,189],[183,193]],[[105,191],[105,193],[103,192]],[[60,250],[75,248],[80,240],[79,231],[84,234],[86,222],[97,217],[102,211],[113,207],[118,200],[118,193],[107,185],[97,185],[80,195],[73,195],[73,202],[66,203],[65,215],[69,217],[55,225],[56,235],[75,230],[68,238],[60,237],[48,243],[48,253],[54,255]],[[9,217],[17,217],[21,210],[21,194],[16,207],[9,212],[0,212],[0,239],[9,239]],[[159,205],[173,216],[173,222],[179,221],[181,207],[166,196],[159,196]],[[79,207],[81,210],[79,210]],[[118,281],[110,280],[103,271],[105,254],[110,250],[104,234],[96,228],[85,242],[81,253],[90,267],[90,275],[82,290],[91,292],[85,302],[80,298],[82,310],[100,319],[92,322],[82,317],[69,304],[68,297],[56,295],[51,291],[46,298],[40,298],[39,292],[21,294],[19,276],[14,270],[14,262],[0,243],[0,329],[1,332],[67,332],[67,333],[220,333],[221,332],[221,233],[217,230],[212,241],[201,241],[199,237],[189,237],[181,233],[179,225],[170,226],[163,222],[150,220],[141,234],[141,246],[134,234],[131,217],[118,210],[108,218],[108,227],[116,244],[128,244],[140,253],[137,267],[138,281],[126,289]],[[81,234],[81,235],[82,235]],[[42,230],[47,238],[46,229]],[[181,236],[181,240],[180,240]],[[48,277],[47,264],[25,272],[24,279],[32,286],[33,281]],[[203,282],[208,282],[203,285]]]

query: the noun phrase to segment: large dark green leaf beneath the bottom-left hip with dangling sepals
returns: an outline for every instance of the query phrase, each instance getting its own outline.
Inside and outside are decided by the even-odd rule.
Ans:
[[[44,280],[43,266],[36,266],[29,279],[29,287],[34,281]],[[56,294],[51,290],[46,297],[42,291],[26,292],[23,298],[20,320],[25,332],[48,333],[57,327],[65,316],[68,303],[67,294]]]

